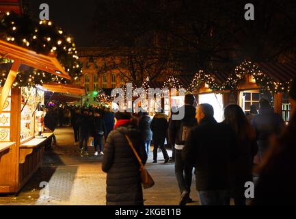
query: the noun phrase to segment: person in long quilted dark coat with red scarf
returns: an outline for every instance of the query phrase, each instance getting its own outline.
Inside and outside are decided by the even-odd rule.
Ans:
[[[117,113],[115,129],[109,133],[102,170],[107,172],[107,205],[144,205],[139,162],[125,138],[129,136],[143,164],[147,154],[141,133],[131,114]]]

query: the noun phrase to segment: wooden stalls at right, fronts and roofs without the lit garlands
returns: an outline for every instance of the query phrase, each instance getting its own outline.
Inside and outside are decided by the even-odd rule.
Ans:
[[[260,68],[261,73],[267,75],[269,79],[278,86],[278,92],[268,91],[268,84],[261,86],[256,81],[252,74],[243,73],[241,80],[235,89],[232,90],[216,90],[213,91],[208,84],[203,83],[198,90],[193,93],[196,94],[198,103],[210,103],[215,110],[215,118],[219,121],[223,120],[224,108],[229,104],[238,104],[242,107],[245,113],[250,112],[251,105],[256,105],[259,109],[259,101],[261,98],[273,100],[274,111],[283,115],[284,120],[288,120],[290,105],[284,89],[284,84],[288,83],[296,77],[295,63],[256,63]],[[211,77],[217,83],[225,83],[229,80],[230,75],[224,73],[211,74]],[[265,87],[263,89],[263,86]],[[265,90],[265,91],[263,91]]]

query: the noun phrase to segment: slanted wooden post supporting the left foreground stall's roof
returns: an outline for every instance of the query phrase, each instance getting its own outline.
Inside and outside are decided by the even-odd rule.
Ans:
[[[1,97],[0,97],[0,114],[3,110],[4,103],[10,93],[10,89],[12,88],[12,84],[14,83],[14,80],[16,79],[16,75],[18,74],[18,68],[20,66],[21,66],[21,60],[14,60],[14,63],[12,64],[12,68],[10,69],[10,73],[8,73],[8,77],[7,77],[7,79],[4,83],[4,86],[2,88]]]

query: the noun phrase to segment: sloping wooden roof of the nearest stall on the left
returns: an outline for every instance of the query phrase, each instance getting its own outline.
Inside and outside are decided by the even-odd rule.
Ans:
[[[10,60],[21,60],[21,64],[44,70],[53,75],[71,79],[57,59],[50,55],[38,54],[35,51],[19,47],[15,44],[0,40],[0,55]]]

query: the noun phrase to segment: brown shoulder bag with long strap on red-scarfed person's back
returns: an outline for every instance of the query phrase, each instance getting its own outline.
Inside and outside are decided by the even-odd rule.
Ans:
[[[143,188],[144,189],[151,188],[155,184],[154,180],[152,179],[149,172],[144,167],[142,160],[139,157],[139,155],[137,154],[137,151],[135,150],[135,147],[133,146],[133,142],[131,142],[131,139],[129,138],[129,136],[127,136],[127,135],[124,135],[124,136],[125,136],[127,142],[129,142],[129,146],[131,146],[131,149],[133,150],[133,153],[135,154],[135,157],[137,157],[137,160],[139,162],[139,166],[140,166],[139,172],[140,172]]]

